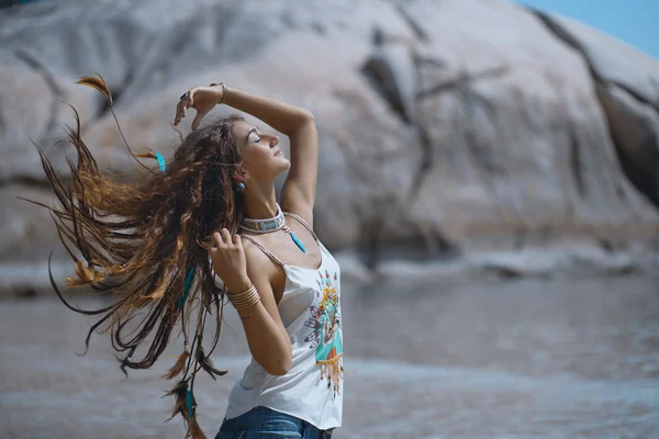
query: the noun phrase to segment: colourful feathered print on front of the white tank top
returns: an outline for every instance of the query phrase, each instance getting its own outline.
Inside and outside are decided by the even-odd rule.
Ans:
[[[304,326],[313,329],[306,336],[305,342],[311,342],[310,349],[315,348],[316,364],[321,364],[321,381],[327,379],[327,387],[334,385],[334,396],[339,392],[343,380],[343,344],[340,340],[342,318],[340,304],[336,286],[337,275],[334,273],[334,283],[330,272],[325,274],[319,271],[320,280],[316,279],[319,290],[314,305],[309,307],[311,318],[304,322]],[[316,306],[315,303],[319,305]]]

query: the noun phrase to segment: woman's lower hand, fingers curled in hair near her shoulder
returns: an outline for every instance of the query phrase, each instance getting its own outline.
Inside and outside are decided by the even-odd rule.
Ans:
[[[204,248],[211,255],[213,269],[231,293],[239,293],[252,285],[247,275],[247,259],[239,235],[228,233],[226,228],[213,234],[214,246]]]

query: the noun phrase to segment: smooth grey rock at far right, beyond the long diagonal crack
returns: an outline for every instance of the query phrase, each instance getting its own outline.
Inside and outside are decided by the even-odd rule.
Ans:
[[[588,64],[621,166],[659,207],[659,63],[578,21],[535,13]]]

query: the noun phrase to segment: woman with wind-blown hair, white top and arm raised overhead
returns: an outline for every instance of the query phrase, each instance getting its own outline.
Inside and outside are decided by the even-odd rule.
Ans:
[[[101,90],[112,104],[102,78],[79,82]],[[241,116],[199,128],[216,104],[249,113],[287,135],[290,160],[279,137]],[[172,160],[166,162],[150,150],[134,154],[157,158],[161,170],[134,184],[101,175],[80,138],[79,124],[69,133],[78,150],[78,164],[70,164],[70,189],[42,154],[62,204],[48,207],[62,240],[67,249],[72,244],[87,262],[69,251],[77,277],[67,278],[68,284],[90,284],[114,292],[118,300],[103,309],[79,309],[64,300],[54,281],[53,286],[70,308],[103,315],[86,344],[105,325],[114,347],[127,352],[121,359],[124,371],[150,368],[174,326],[181,325],[183,353],[167,376],[182,374],[170,392],[176,397],[172,416],[181,414],[188,436],[194,438],[203,437],[196,419],[194,376],[202,369],[213,379],[225,373],[204,352],[202,329],[206,316],[214,314],[212,352],[227,297],[241,317],[253,360],[231,392],[216,438],[330,438],[340,426],[343,408],[339,267],[310,226],[319,155],[314,117],[223,83],[185,93],[175,125],[190,109],[197,110],[192,133]],[[273,180],[287,170],[278,204]],[[137,317],[141,309],[146,315]],[[133,359],[154,328],[144,358]]]

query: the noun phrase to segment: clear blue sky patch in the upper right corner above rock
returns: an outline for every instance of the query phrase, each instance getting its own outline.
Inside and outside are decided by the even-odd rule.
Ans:
[[[659,59],[659,0],[513,0],[569,16]]]

